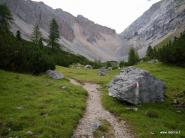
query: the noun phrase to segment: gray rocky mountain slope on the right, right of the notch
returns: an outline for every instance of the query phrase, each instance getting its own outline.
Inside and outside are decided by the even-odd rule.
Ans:
[[[131,24],[121,36],[128,46],[137,48],[143,56],[148,45],[155,46],[184,29],[185,0],[162,0]]]

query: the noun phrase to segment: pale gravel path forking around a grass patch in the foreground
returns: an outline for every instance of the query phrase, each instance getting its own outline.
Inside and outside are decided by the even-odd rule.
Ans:
[[[105,110],[101,104],[101,95],[97,84],[85,83],[81,85],[75,80],[70,80],[74,85],[83,86],[88,92],[87,107],[83,118],[80,120],[73,138],[93,138],[93,125],[97,120],[107,120],[114,128],[116,138],[133,138],[124,121],[119,121],[114,115]]]

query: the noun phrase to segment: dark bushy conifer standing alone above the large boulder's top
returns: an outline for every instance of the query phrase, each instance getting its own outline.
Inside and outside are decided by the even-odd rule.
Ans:
[[[139,62],[139,55],[134,48],[129,50],[128,65],[132,66]]]

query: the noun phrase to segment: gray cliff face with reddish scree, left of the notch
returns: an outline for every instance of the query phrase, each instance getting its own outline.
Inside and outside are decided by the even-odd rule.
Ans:
[[[49,32],[49,23],[55,18],[59,24],[62,48],[75,54],[96,60],[119,60],[117,51],[122,40],[113,29],[95,24],[79,15],[74,17],[62,9],[52,9],[42,2],[31,0],[0,0],[10,8],[14,24],[12,31],[20,30],[24,38],[30,39],[32,27],[39,24],[44,38]]]

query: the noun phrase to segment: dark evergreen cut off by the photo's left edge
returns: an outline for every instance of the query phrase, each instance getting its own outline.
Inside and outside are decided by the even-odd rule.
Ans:
[[[12,14],[6,5],[0,5],[0,31],[9,31],[13,21]]]

